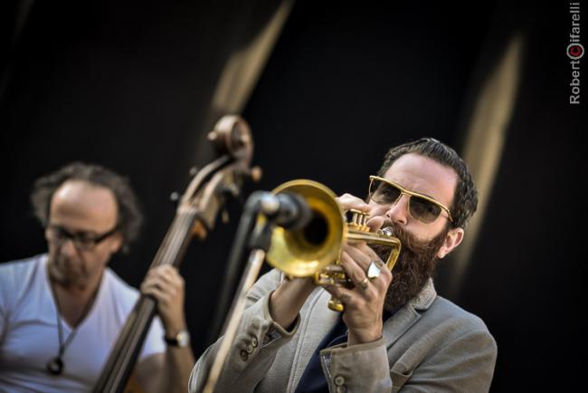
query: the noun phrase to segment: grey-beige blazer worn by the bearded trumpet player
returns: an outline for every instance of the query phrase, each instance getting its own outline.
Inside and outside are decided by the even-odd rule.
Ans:
[[[272,270],[255,283],[248,308],[215,392],[294,392],[308,360],[337,322],[330,294],[317,288],[292,331],[269,312],[270,293],[282,279]],[[220,340],[198,359],[190,391],[204,388]],[[432,280],[384,322],[382,339],[321,350],[330,392],[486,392],[497,346],[483,321],[437,296]]]

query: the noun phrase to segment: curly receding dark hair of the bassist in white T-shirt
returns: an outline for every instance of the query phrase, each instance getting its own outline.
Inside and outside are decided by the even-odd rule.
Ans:
[[[33,213],[43,226],[48,225],[49,206],[53,193],[68,180],[81,180],[100,187],[108,188],[117,200],[117,225],[123,237],[123,251],[128,251],[128,244],[137,239],[143,216],[138,206],[138,199],[130,187],[128,179],[121,177],[100,165],[73,162],[34,182],[31,192]]]

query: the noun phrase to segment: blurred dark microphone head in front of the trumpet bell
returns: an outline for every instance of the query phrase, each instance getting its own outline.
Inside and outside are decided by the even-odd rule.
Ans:
[[[300,229],[312,219],[312,211],[303,197],[293,193],[265,193],[260,199],[261,213],[285,229]]]

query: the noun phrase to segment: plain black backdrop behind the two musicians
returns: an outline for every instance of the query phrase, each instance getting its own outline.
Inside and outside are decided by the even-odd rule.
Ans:
[[[0,260],[45,250],[28,203],[33,180],[81,159],[129,177],[143,203],[141,240],[110,264],[137,286],[174,216],[168,195],[206,162],[194,152],[207,149],[223,64],[275,2],[37,1],[21,29],[14,15],[25,3],[0,10]],[[497,392],[570,390],[586,365],[586,109],[568,103],[571,18],[567,3],[552,3],[299,1],[242,113],[264,172],[245,195],[308,177],[361,196],[397,143],[427,135],[460,151],[484,75],[523,34],[488,215],[450,295],[498,342]],[[232,202],[230,225],[192,244],[182,265],[196,356],[211,340],[240,208]],[[448,295],[451,261],[440,269]]]

